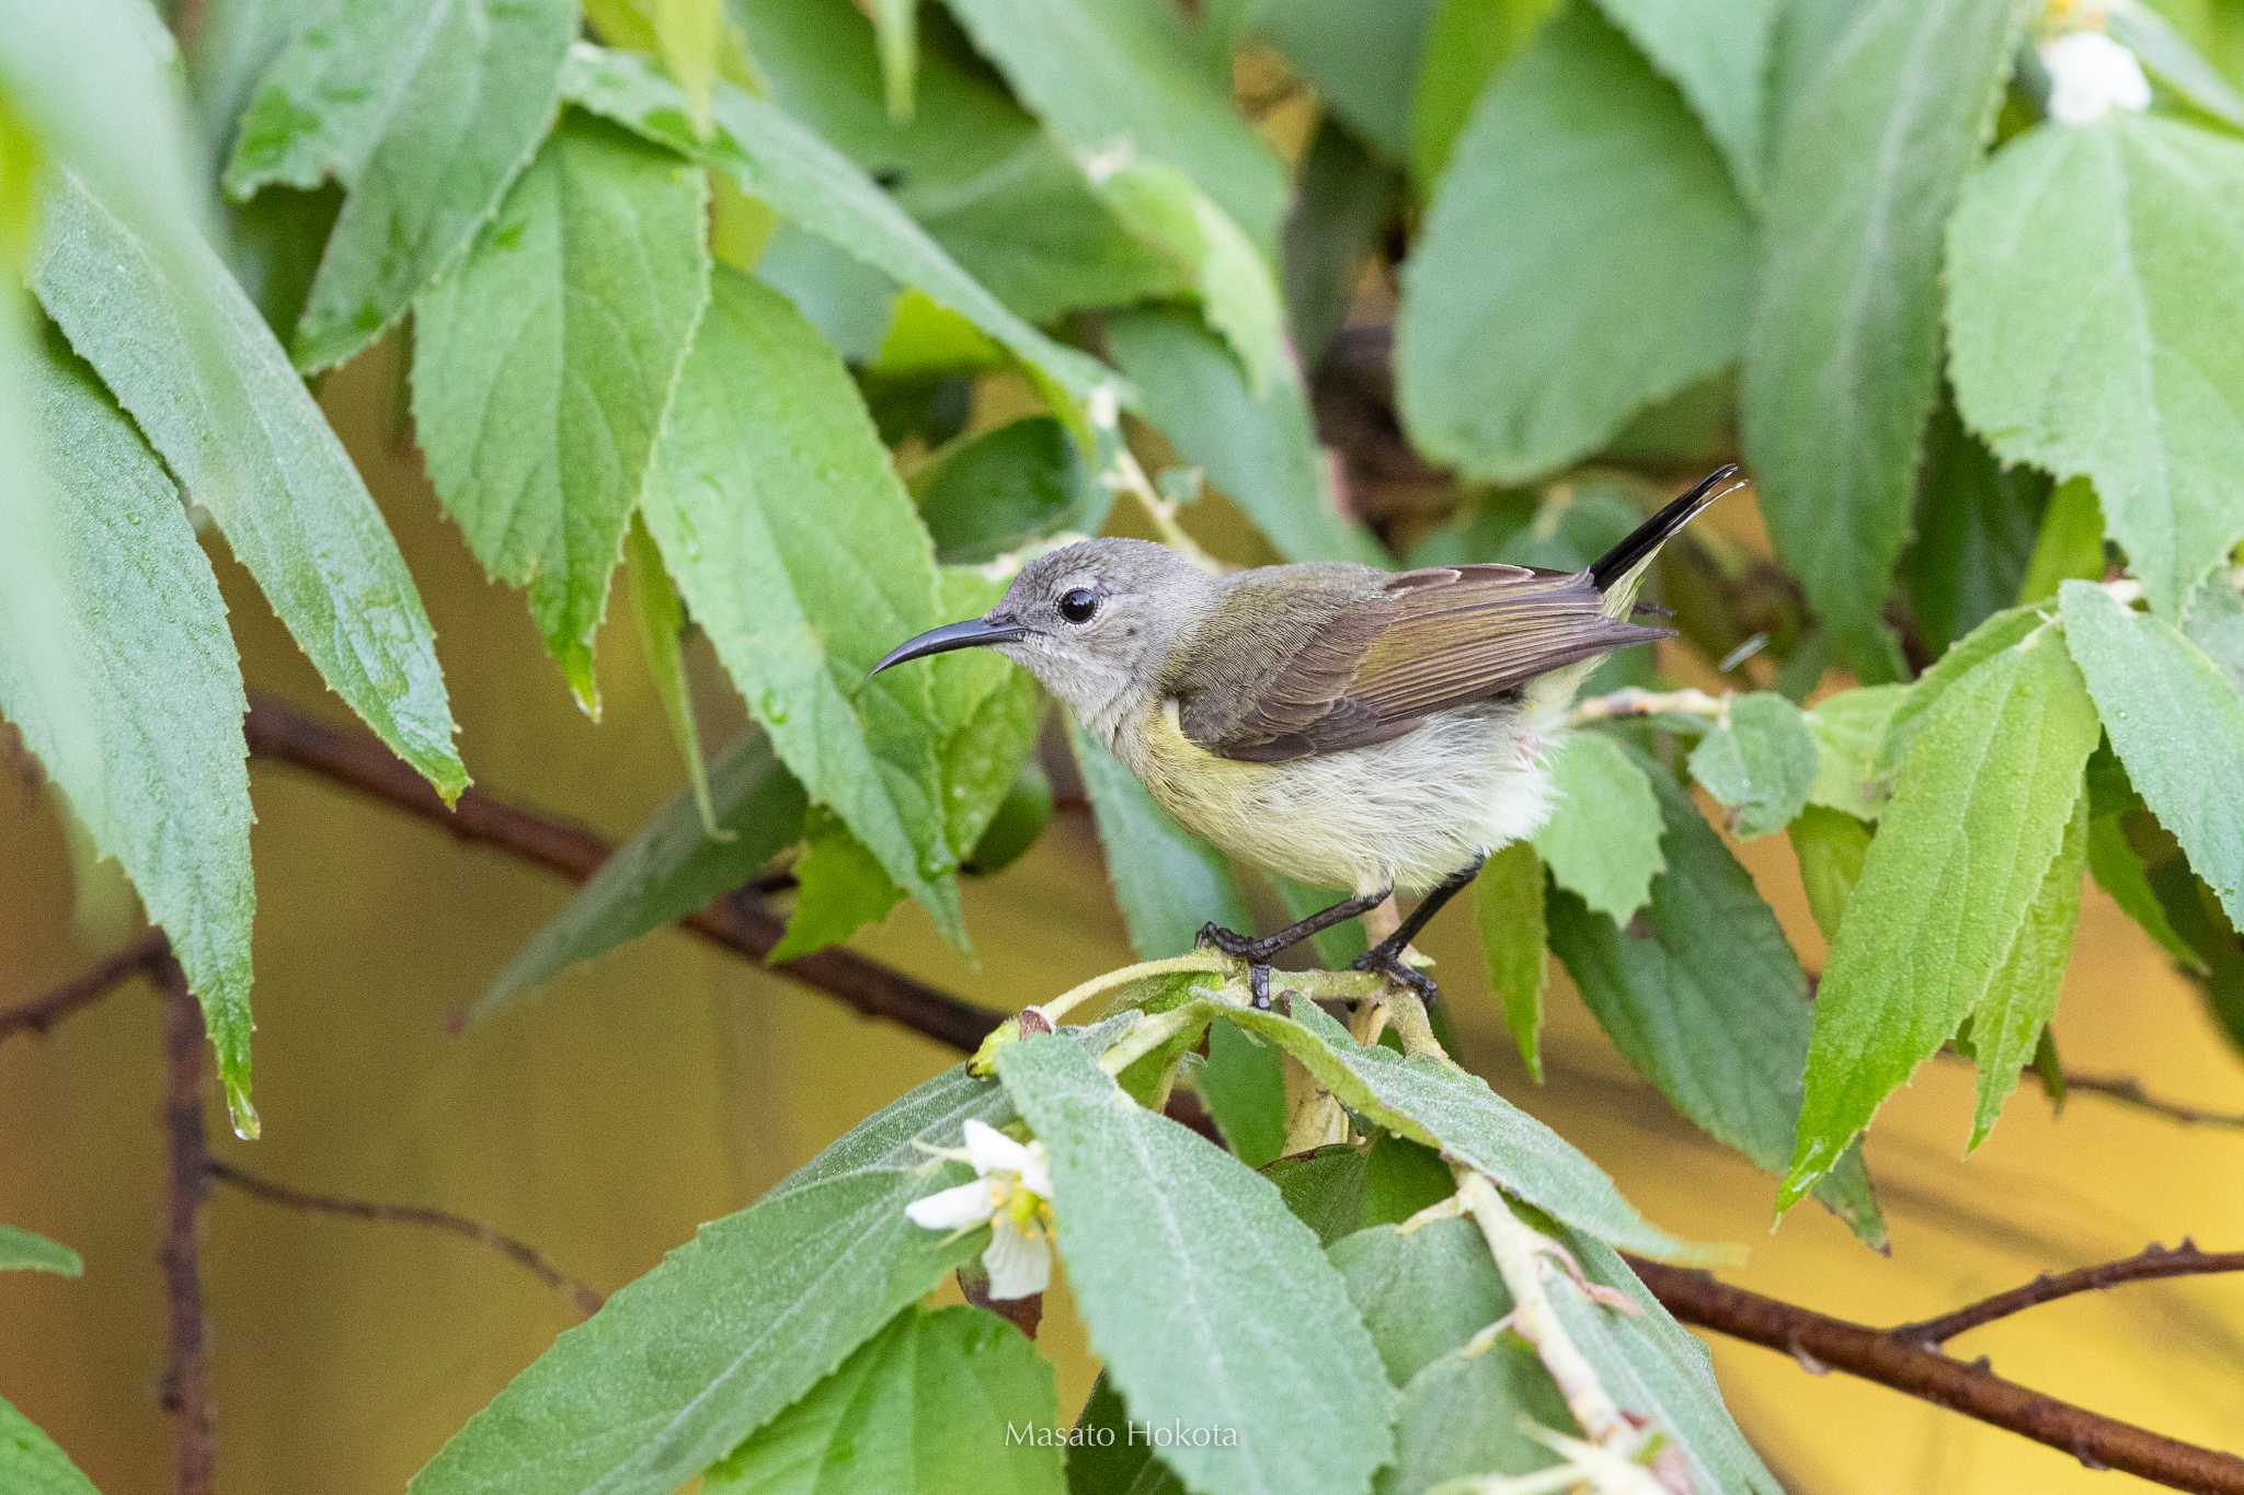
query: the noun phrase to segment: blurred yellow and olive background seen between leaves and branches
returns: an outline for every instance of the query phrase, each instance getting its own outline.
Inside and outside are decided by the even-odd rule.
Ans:
[[[628,623],[604,637],[606,719],[577,715],[521,598],[482,581],[438,516],[393,417],[395,347],[330,381],[330,415],[386,509],[435,619],[462,749],[480,787],[610,836],[680,782]],[[1748,511],[1730,518],[1750,538]],[[231,560],[215,556],[251,688],[334,715]],[[711,717],[723,686],[709,677]],[[734,713],[736,715],[736,713]],[[720,740],[720,735],[718,735]],[[761,1195],[873,1107],[954,1060],[893,1027],[714,953],[653,935],[467,1036],[473,997],[568,888],[337,787],[258,764],[256,1078],[265,1141],[222,1157],[289,1186],[440,1204],[521,1235],[610,1291],[702,1219]],[[1813,968],[1782,836],[1744,847]],[[2244,1246],[2244,1132],[2181,1127],[2094,1096],[2062,1118],[2026,1089],[1961,1157],[1970,1071],[1932,1065],[1880,1114],[1869,1163],[1894,1253],[1813,1206],[1768,1233],[1773,1181],[1679,1121],[1620,1062],[1564,977],[1551,1078],[1526,1080],[1477,971],[1463,901],[1425,941],[1463,1058],[1611,1170],[1656,1222],[1753,1248],[1737,1280],[1847,1318],[1907,1320],[2035,1271],[2195,1235]],[[967,888],[978,962],[902,908],[871,955],[990,1009],[1019,1009],[1129,959],[1082,816]],[[40,791],[0,782],[0,1004],[27,1000],[128,935],[74,930],[67,849]],[[2244,1065],[2192,993],[2089,890],[2058,1038],[2071,1065],[2244,1109]],[[0,1275],[0,1394],[114,1493],[168,1486],[157,1410],[164,1298],[162,1038],[135,982],[49,1040],[0,1047],[0,1222],[85,1255],[79,1282]],[[211,1105],[213,1130],[222,1130]],[[220,1188],[204,1266],[220,1488],[397,1491],[554,1334],[570,1302],[451,1235],[303,1215]],[[1061,1408],[1091,1385],[1064,1293],[1043,1347]],[[2035,1309],[1957,1343],[2056,1396],[2181,1439],[2244,1450],[2244,1282],[2127,1287]],[[1717,1343],[1730,1405],[1800,1493],[2112,1491],[2121,1475],[1883,1387]]]

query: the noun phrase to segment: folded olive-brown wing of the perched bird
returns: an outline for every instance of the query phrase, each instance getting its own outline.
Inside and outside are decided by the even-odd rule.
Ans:
[[[1185,735],[1221,758],[1281,762],[1385,742],[1452,706],[1667,637],[1604,614],[1589,574],[1517,565],[1403,572],[1315,628],[1230,702],[1185,702]]]

